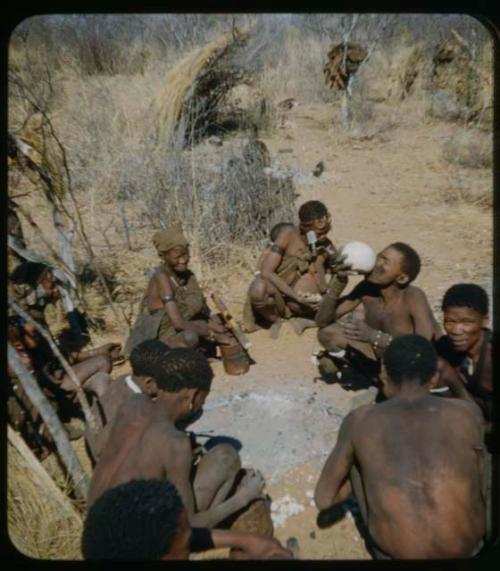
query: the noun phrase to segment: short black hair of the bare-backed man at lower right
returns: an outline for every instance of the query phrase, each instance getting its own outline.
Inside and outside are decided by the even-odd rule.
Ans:
[[[393,383],[420,380],[425,385],[437,370],[437,352],[421,335],[400,335],[384,351],[383,362]]]

